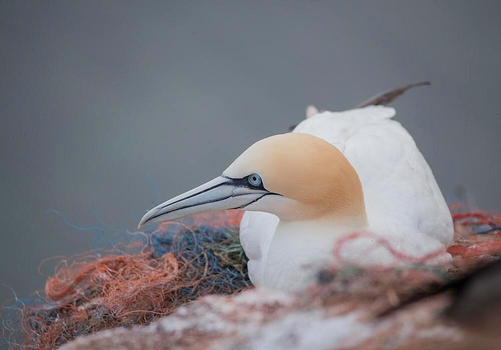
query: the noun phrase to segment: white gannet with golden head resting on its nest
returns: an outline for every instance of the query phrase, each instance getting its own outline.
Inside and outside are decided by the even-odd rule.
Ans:
[[[435,178],[390,107],[315,113],[292,133],[245,150],[221,176],[148,211],[139,226],[200,212],[245,210],[240,241],[256,286],[294,291],[334,263],[333,248],[353,232],[373,232],[430,264],[447,264],[452,219]],[[361,235],[344,262],[398,263]]]

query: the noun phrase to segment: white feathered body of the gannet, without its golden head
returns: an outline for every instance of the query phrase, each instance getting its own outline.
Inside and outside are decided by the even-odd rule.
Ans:
[[[240,241],[254,284],[292,290],[308,284],[318,265],[334,262],[336,241],[357,230],[384,237],[396,251],[416,258],[443,250],[428,262],[447,263],[445,247],[453,236],[450,212],[431,169],[409,133],[391,119],[394,115],[393,108],[382,106],[323,112],[295,128],[334,145],[351,163],[362,184],[367,224],[291,225],[270,213],[245,212]],[[371,236],[345,245],[342,257],[358,265],[399,262]],[[298,271],[303,272],[298,276]]]

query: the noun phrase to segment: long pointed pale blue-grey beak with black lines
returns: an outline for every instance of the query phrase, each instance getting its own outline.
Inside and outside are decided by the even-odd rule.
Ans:
[[[149,210],[138,227],[208,211],[243,209],[268,194],[272,193],[250,188],[244,179],[218,176]]]

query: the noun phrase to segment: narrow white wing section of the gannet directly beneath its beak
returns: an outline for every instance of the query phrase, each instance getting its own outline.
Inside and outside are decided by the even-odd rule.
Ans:
[[[240,221],[240,243],[249,259],[250,280],[256,286],[263,284],[263,263],[278,223],[277,216],[260,211],[246,211]]]

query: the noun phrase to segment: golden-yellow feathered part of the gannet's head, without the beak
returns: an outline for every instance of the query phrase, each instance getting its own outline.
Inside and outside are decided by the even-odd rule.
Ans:
[[[223,176],[243,178],[253,173],[261,176],[266,190],[284,198],[263,197],[246,210],[267,211],[286,220],[365,216],[357,172],[336,147],[319,137],[288,133],[258,141]]]

